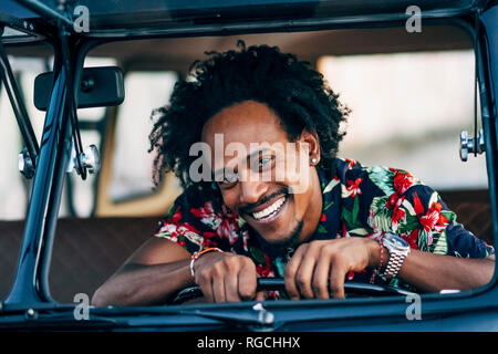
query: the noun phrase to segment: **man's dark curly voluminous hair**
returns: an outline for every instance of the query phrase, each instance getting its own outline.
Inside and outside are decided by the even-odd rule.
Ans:
[[[239,51],[209,52],[204,62],[190,66],[193,80],[176,83],[170,103],[153,112],[151,152],[156,153],[153,178],[157,186],[164,173],[174,171],[185,190],[197,189],[214,201],[220,194],[211,183],[194,183],[188,176],[190,146],[200,140],[206,122],[236,103],[247,100],[267,104],[281,118],[289,139],[298,139],[303,129],[315,133],[321,149],[320,167],[332,168],[339,131],[350,110],[338,101],[323,75],[295,55],[277,46],[251,45],[239,41]],[[197,188],[189,188],[193,186]]]

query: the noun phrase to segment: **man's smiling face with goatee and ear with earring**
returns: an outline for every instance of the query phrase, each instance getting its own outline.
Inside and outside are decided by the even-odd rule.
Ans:
[[[211,117],[201,138],[228,208],[272,244],[291,247],[311,236],[322,207],[312,134],[292,144],[272,110],[245,101]]]

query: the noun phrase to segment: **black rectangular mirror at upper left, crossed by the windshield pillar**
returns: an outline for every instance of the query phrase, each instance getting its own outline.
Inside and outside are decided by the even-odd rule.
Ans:
[[[53,72],[34,79],[34,106],[46,111],[53,87]],[[77,107],[115,106],[125,96],[123,71],[117,66],[84,67],[77,92]]]

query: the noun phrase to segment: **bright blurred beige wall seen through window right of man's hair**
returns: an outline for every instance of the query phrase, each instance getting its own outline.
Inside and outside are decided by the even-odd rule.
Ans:
[[[438,189],[486,188],[485,156],[463,163],[474,134],[471,51],[325,56],[330,86],[351,110],[340,156],[409,170]]]

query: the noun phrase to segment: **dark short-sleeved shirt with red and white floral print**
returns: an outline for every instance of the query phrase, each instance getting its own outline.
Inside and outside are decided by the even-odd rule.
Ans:
[[[384,166],[363,167],[350,159],[335,159],[335,174],[318,168],[323,207],[314,235],[309,239],[343,237],[378,238],[385,232],[405,239],[412,249],[465,258],[495,253],[457,222],[437,191],[409,173]],[[210,200],[180,195],[159,222],[156,237],[177,242],[190,253],[217,247],[253,260],[260,277],[283,278],[293,254],[272,254],[261,237],[242,218],[222,207],[215,212]],[[350,272],[346,281],[369,282],[373,270]],[[416,290],[398,279],[376,277],[375,283]],[[273,296],[279,296],[278,292]]]

